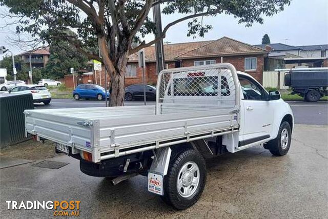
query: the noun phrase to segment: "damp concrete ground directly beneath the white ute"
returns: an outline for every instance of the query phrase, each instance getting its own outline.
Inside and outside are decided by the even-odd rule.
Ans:
[[[296,125],[290,152],[271,155],[263,147],[207,162],[207,183],[196,205],[183,211],[147,192],[147,178],[117,186],[85,175],[66,155],[59,169],[1,169],[1,218],[52,218],[54,210],[8,210],[6,201],[80,201],[77,218],[327,218],[327,126]],[[42,157],[40,157],[42,159]],[[70,217],[74,218],[74,217]]]

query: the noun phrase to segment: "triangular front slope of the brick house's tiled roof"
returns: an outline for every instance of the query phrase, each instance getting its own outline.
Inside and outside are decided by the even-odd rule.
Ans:
[[[259,53],[267,53],[267,51],[224,36],[209,44],[196,48],[192,51],[183,53],[177,56],[177,58],[215,57]]]

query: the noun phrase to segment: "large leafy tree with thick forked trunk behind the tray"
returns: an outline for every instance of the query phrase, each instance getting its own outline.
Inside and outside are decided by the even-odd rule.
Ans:
[[[45,44],[65,39],[81,54],[102,62],[111,80],[111,106],[121,106],[129,55],[165,38],[173,25],[189,20],[186,34],[203,36],[212,28],[204,23],[204,16],[231,14],[250,26],[263,23],[263,16],[282,11],[290,0],[0,0],[0,4],[17,18],[18,33],[28,32]],[[162,14],[179,16],[163,27],[157,38],[142,41],[155,32],[149,12],[157,4],[161,4]],[[68,29],[76,34],[68,34]],[[138,46],[132,47],[133,42]],[[101,58],[87,49],[95,46]]]

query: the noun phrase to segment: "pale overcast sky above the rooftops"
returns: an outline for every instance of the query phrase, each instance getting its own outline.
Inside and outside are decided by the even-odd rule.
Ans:
[[[4,8],[2,8],[4,10]],[[152,17],[152,12],[150,12]],[[162,27],[175,21],[179,15],[162,15]],[[212,25],[213,29],[204,37],[187,36],[188,21],[171,27],[164,42],[181,43],[218,39],[222,36],[237,39],[249,44],[260,44],[265,33],[270,36],[271,43],[285,43],[293,46],[328,44],[328,0],[293,0],[284,11],[264,17],[264,23],[245,27],[238,24],[238,18],[232,15],[220,14],[216,17],[205,17],[204,23]],[[0,27],[5,25],[5,19],[0,18]],[[13,36],[15,26],[0,28],[0,46],[12,50],[14,54],[22,52],[17,46],[10,45],[8,36]],[[153,35],[145,37],[146,42]],[[2,59],[2,55],[0,55]]]

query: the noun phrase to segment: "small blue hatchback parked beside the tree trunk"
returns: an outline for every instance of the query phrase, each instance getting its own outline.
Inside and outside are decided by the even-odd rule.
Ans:
[[[109,91],[107,90],[107,98],[109,98]],[[80,98],[92,99],[96,98],[99,101],[105,99],[105,88],[99,85],[92,85],[92,84],[83,84],[78,85],[73,90],[73,97],[74,99],[78,100]]]

